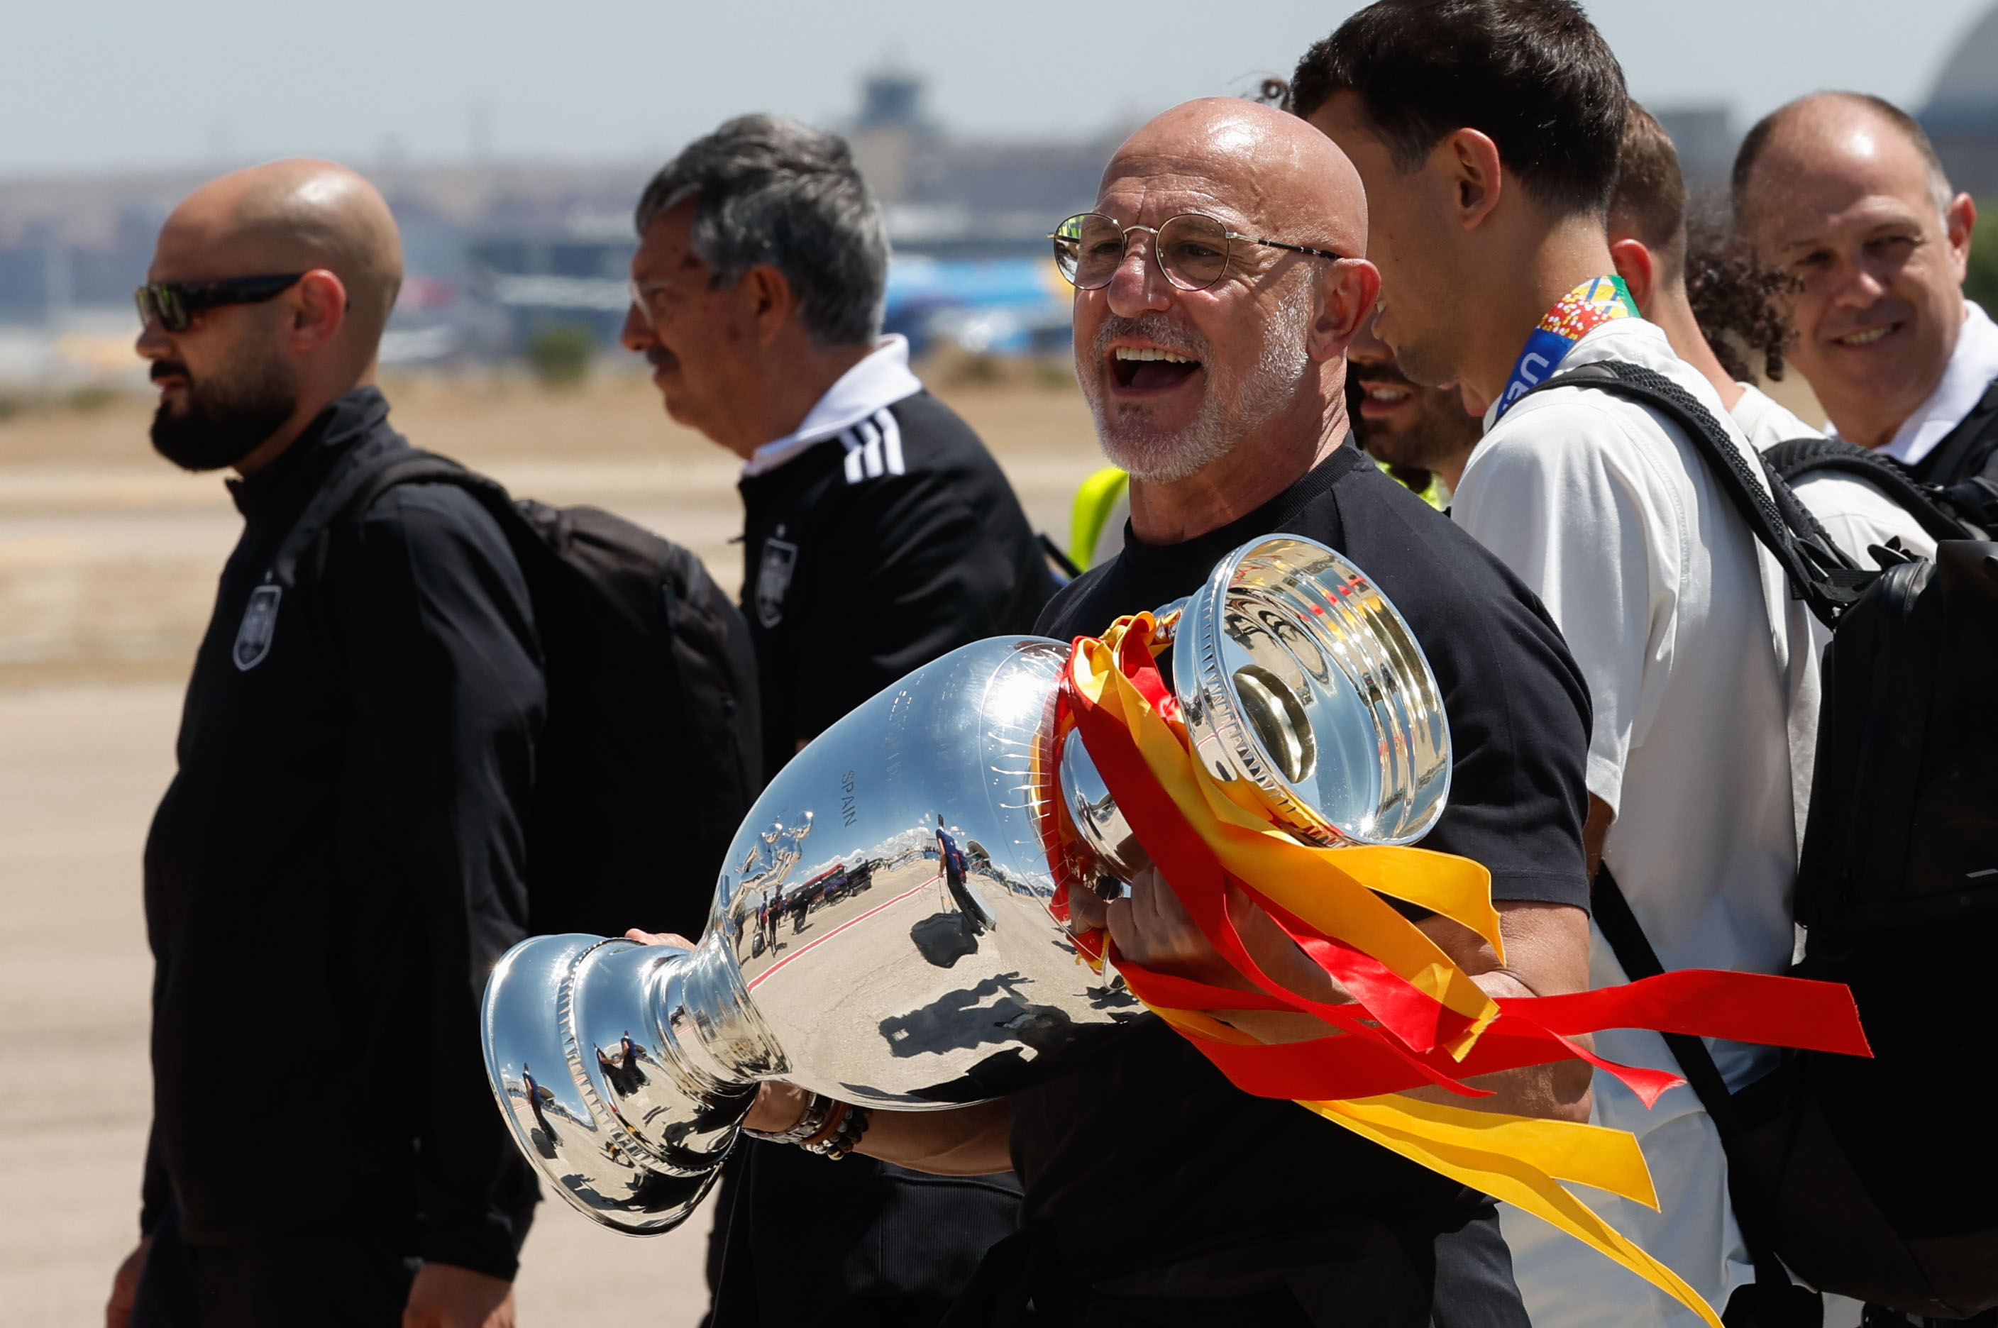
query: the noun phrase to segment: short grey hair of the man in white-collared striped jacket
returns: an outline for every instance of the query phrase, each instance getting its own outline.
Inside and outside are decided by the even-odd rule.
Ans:
[[[843,138],[779,116],[729,120],[651,178],[637,234],[689,198],[693,252],[713,268],[713,286],[769,264],[821,345],[865,345],[881,333],[887,228]]]

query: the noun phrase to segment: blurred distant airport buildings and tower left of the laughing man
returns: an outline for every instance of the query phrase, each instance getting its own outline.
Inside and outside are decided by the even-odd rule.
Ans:
[[[1091,206],[1121,132],[967,142],[931,120],[917,74],[875,72],[859,94],[845,132],[887,216],[889,328],[919,349],[1065,345],[1069,290],[1049,262],[1047,234]],[[637,246],[631,206],[659,162],[358,166],[404,238],[406,280],[384,363],[500,359],[551,326],[587,328],[605,349],[615,343]],[[212,174],[0,180],[0,387],[70,373],[50,365],[72,333],[126,363],[132,288],[146,280],[160,224]],[[72,377],[94,371],[84,365]]]

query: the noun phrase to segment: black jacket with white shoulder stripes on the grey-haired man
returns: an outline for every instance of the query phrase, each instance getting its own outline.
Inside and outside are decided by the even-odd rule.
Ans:
[[[1055,591],[999,463],[921,391],[741,481],[765,777],[937,655],[1033,631]],[[715,1328],[933,1324],[1013,1230],[1011,1176],[921,1176],[745,1140]]]

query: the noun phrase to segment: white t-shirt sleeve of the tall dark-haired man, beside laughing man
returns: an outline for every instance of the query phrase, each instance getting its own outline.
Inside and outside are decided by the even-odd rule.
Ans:
[[[1451,515],[1566,637],[1594,709],[1588,791],[1616,811],[1624,761],[1656,711],[1646,665],[1664,675],[1672,663],[1686,521],[1616,409],[1592,395],[1550,391],[1514,407],[1473,453]]]

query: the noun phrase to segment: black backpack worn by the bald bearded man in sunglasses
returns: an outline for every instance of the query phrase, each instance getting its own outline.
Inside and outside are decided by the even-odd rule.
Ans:
[[[529,927],[699,937],[761,789],[741,611],[687,549],[595,507],[513,501],[498,481],[400,439],[362,443],[334,469],[274,575],[290,579],[336,517],[402,483],[480,499],[527,579],[547,677],[527,809]]]

